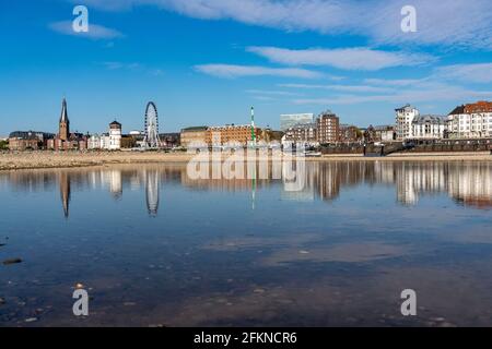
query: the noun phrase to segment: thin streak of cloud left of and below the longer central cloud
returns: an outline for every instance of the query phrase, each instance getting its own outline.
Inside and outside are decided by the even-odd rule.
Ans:
[[[280,77],[300,77],[317,79],[323,74],[306,69],[297,68],[267,68],[255,65],[233,65],[233,64],[202,64],[195,69],[201,73],[219,77],[242,77],[242,76],[280,76]]]

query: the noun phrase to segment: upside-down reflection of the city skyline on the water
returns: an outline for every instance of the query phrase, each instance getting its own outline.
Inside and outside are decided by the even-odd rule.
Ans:
[[[272,167],[270,167],[271,174]],[[54,176],[56,173],[56,176]],[[447,193],[455,202],[473,208],[492,208],[492,165],[490,163],[308,163],[301,190],[285,190],[285,179],[190,179],[185,166],[145,166],[84,170],[19,171],[0,174],[2,181],[22,192],[49,191],[58,182],[63,214],[69,217],[72,190],[105,188],[115,200],[122,200],[124,188],[144,189],[148,212],[159,214],[160,188],[174,182],[189,190],[251,192],[255,208],[257,192],[276,185],[281,200],[335,201],[344,189],[359,184],[394,185],[398,203],[414,206],[420,197]],[[276,189],[277,190],[277,189]]]

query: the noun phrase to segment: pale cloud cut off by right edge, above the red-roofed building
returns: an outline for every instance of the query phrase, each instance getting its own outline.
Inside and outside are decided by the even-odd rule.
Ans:
[[[447,65],[437,70],[437,76],[470,83],[492,83],[492,63]]]

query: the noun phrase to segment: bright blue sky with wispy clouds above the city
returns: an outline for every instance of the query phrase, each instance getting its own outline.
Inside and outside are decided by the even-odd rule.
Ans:
[[[77,4],[87,34],[71,29]],[[80,132],[143,129],[149,100],[162,132],[247,123],[250,106],[273,128],[325,109],[391,123],[407,103],[446,115],[492,99],[491,23],[490,0],[1,1],[0,135],[56,131],[63,95]]]

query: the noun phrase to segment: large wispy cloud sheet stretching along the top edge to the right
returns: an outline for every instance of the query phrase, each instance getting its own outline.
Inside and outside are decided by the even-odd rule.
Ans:
[[[72,1],[72,0],[69,0]],[[74,1],[72,1],[74,2]],[[407,0],[85,0],[103,10],[156,5],[203,20],[234,20],[284,31],[358,34],[375,44],[492,48],[490,0],[412,0],[418,32],[400,28]]]

